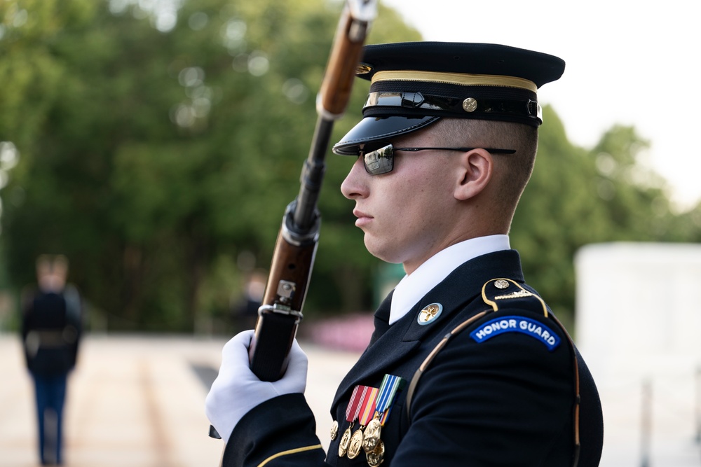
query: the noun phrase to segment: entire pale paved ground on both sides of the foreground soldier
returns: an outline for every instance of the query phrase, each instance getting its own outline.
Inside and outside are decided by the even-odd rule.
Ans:
[[[203,406],[223,345],[224,339],[88,337],[69,379],[65,465],[219,466],[222,442],[207,436]],[[307,400],[327,445],[329,406],[358,353],[306,342],[302,347],[310,359]],[[38,465],[33,389],[20,352],[15,335],[0,334],[0,467]],[[641,467],[639,385],[599,389],[606,424],[601,467]],[[690,376],[655,380],[648,467],[701,466],[694,392]]]

